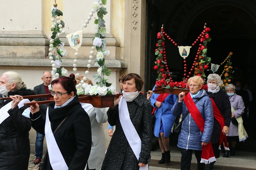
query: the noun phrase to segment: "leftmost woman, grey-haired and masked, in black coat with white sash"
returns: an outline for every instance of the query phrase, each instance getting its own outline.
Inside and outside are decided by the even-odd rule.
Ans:
[[[35,95],[27,89],[20,74],[4,72],[0,79],[0,97],[13,100],[0,101],[0,169],[28,169],[30,156],[29,114],[23,114],[28,106],[23,106],[22,96]]]

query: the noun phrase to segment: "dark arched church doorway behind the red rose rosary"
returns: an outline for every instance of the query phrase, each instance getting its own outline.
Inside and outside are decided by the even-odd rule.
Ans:
[[[147,32],[146,32],[146,62],[145,89],[154,86],[156,73],[152,69],[155,62],[156,35],[163,24],[164,30],[180,46],[191,46],[202,32],[204,23],[211,29],[209,32],[212,40],[208,44],[207,56],[212,58],[212,63],[221,64],[233,52],[231,62],[233,66],[233,81],[240,80],[248,83],[253,92],[253,101],[249,112],[249,119],[245,125],[248,138],[245,142],[238,143],[237,147],[243,151],[256,152],[256,128],[254,121],[255,109],[255,58],[256,46],[256,2],[239,0],[191,0],[147,1]],[[178,49],[166,40],[167,62],[171,72],[178,72],[177,80],[182,79],[183,58],[178,54]],[[198,44],[191,48],[187,63],[191,67]],[[217,74],[221,74],[224,67],[220,67]],[[206,72],[208,75],[210,72]],[[175,135],[174,135],[175,136]],[[177,142],[174,140],[173,142]],[[176,143],[174,144],[176,145]]]

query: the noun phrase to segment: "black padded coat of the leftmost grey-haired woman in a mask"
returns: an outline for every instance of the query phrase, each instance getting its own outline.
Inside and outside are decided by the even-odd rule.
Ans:
[[[30,89],[11,91],[8,96],[34,95]],[[2,96],[0,96],[2,97]],[[0,108],[12,100],[0,101]],[[28,106],[18,106],[8,111],[9,117],[0,124],[0,169],[27,170],[30,156],[29,131],[31,121],[22,115]]]

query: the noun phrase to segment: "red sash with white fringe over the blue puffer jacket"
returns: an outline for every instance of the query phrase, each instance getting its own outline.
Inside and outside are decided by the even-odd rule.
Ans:
[[[185,102],[185,105],[187,106],[189,113],[191,114],[192,118],[196,122],[198,128],[203,133],[204,119],[189,93],[184,97],[184,102]],[[211,162],[214,162],[214,161],[216,161],[216,159],[212,150],[212,143],[210,140],[210,142],[207,145],[203,146],[200,163],[210,164]]]

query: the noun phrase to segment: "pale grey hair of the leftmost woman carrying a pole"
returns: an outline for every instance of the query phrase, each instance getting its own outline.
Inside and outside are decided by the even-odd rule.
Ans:
[[[9,84],[16,83],[16,87],[14,90],[18,90],[20,88],[27,88],[26,84],[22,81],[19,73],[15,71],[6,71],[3,73],[3,75],[6,75],[6,80]]]

